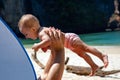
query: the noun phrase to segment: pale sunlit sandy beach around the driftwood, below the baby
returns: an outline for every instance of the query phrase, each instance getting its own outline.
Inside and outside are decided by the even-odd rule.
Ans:
[[[93,46],[100,50],[102,53],[107,54],[109,58],[109,65],[107,68],[103,68],[104,71],[112,71],[112,70],[120,70],[120,46]],[[33,54],[33,50],[30,48],[26,48],[28,55],[33,63],[35,68],[37,77],[42,73],[43,69],[39,67],[35,61],[31,58],[31,54]],[[50,51],[48,50],[46,53],[43,53],[41,50],[37,53],[37,58],[45,65],[46,61],[49,57]],[[74,65],[74,66],[85,66],[89,67],[89,65],[75,53],[71,52],[68,49],[65,49],[65,56],[69,57],[70,60],[67,65]],[[93,55],[90,55],[92,59],[95,61],[96,64],[99,66],[103,66],[103,63]],[[85,75],[76,75],[74,73],[69,73],[64,70],[62,80],[120,80],[120,72],[106,75],[105,77],[100,76],[85,76]]]

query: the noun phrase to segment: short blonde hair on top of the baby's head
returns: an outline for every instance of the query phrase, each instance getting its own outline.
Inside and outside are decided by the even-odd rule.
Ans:
[[[18,27],[39,28],[40,23],[39,23],[39,20],[35,16],[33,16],[32,14],[25,14],[19,20]]]

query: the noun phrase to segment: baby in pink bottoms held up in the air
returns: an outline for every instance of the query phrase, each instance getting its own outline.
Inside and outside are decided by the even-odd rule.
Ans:
[[[51,39],[46,32],[48,32],[51,28],[41,27],[39,20],[35,16],[31,14],[23,15],[18,23],[18,26],[20,32],[25,35],[26,38],[31,38],[33,40],[39,38],[41,40],[39,43],[35,43],[32,49],[38,51],[41,48],[44,52],[46,52],[47,49],[50,48]],[[65,35],[64,46],[76,53],[78,56],[82,57],[90,65],[92,69],[90,76],[95,74],[95,72],[99,69],[99,66],[93,62],[87,52],[98,57],[104,63],[104,67],[108,66],[108,56],[85,44],[77,34],[63,32],[62,34]],[[54,33],[54,35],[56,34]]]

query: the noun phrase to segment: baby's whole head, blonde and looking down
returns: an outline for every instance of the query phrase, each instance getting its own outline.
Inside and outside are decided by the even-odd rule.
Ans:
[[[25,14],[19,20],[18,27],[26,38],[36,39],[41,26],[39,20],[35,16]]]

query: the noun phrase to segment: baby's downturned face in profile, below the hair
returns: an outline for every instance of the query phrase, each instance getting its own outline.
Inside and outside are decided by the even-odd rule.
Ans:
[[[35,34],[34,31],[32,31],[32,29],[29,29],[29,28],[20,28],[20,32],[25,36],[25,38],[29,38],[29,39],[37,39],[37,36]]]

